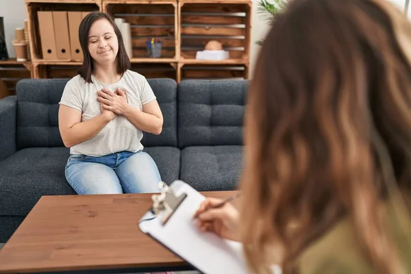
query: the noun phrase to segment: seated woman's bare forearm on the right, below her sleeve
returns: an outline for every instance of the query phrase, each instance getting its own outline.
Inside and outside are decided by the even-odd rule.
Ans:
[[[153,114],[148,114],[129,106],[123,115],[134,127],[137,127],[143,132],[149,132],[155,135],[162,132],[163,121]]]

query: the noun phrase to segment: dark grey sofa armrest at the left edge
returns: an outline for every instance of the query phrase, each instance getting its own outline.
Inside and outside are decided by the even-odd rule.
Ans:
[[[0,161],[16,152],[17,97],[0,100]]]

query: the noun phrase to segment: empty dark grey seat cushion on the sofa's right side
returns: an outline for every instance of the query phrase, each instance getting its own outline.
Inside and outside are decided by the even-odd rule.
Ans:
[[[242,146],[182,149],[181,179],[196,190],[234,190],[241,171]]]

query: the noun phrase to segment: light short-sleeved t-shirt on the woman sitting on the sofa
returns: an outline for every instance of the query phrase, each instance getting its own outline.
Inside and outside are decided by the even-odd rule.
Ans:
[[[101,114],[97,91],[107,88],[115,92],[117,88],[125,90],[129,105],[142,110],[142,105],[153,101],[155,95],[147,79],[127,70],[115,84],[103,84],[92,76],[92,83],[87,83],[80,75],[73,77],[64,87],[59,104],[68,105],[82,112],[82,122]],[[125,116],[117,115],[93,138],[71,147],[71,154],[101,156],[119,151],[136,152],[143,147],[140,140],[142,131],[134,127]]]

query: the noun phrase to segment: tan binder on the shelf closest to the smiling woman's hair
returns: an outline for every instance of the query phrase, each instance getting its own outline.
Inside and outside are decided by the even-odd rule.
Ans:
[[[83,51],[79,41],[79,26],[83,20],[82,12],[68,12],[71,60],[82,61]]]

